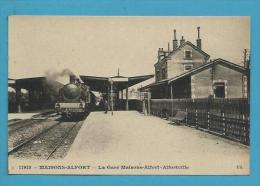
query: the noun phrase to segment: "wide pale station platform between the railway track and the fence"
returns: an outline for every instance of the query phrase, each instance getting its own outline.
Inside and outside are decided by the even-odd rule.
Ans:
[[[89,174],[249,174],[247,146],[137,111],[90,113],[65,160],[91,165]],[[121,165],[188,168],[107,168]]]

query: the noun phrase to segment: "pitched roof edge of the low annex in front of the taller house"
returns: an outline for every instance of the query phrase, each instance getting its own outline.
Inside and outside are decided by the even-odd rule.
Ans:
[[[197,74],[197,73],[199,73],[201,71],[204,71],[205,69],[210,68],[210,67],[212,67],[213,65],[216,65],[216,64],[221,64],[223,66],[227,66],[228,68],[231,68],[231,69],[236,70],[236,71],[238,71],[240,73],[243,73],[243,74],[247,74],[248,73],[248,69],[246,69],[245,67],[242,67],[242,66],[237,65],[235,63],[232,63],[230,61],[226,61],[224,59],[218,58],[218,59],[215,59],[215,60],[213,60],[211,62],[205,63],[205,64],[203,64],[203,65],[201,65],[201,66],[199,66],[197,68],[191,69],[190,71],[187,71],[187,72],[185,72],[183,74],[175,76],[175,77],[169,79],[168,83],[171,83],[171,82],[173,82],[173,81],[175,81],[177,79],[180,79],[180,78],[188,76],[188,75]]]

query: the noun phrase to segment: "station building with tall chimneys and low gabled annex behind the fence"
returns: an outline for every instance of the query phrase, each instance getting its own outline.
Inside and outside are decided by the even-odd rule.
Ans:
[[[172,50],[169,43],[168,50],[158,50],[155,82],[141,91],[151,92],[152,99],[248,97],[249,61],[240,66],[224,59],[209,60],[197,29],[196,45],[183,36],[178,45],[174,30]]]

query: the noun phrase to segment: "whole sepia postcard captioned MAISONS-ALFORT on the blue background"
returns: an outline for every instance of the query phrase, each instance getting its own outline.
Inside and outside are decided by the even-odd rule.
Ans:
[[[249,175],[250,17],[9,16],[8,173]]]

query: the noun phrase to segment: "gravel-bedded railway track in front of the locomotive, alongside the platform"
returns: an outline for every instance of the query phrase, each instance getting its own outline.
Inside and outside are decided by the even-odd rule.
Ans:
[[[82,124],[80,122],[58,122],[43,130],[41,133],[32,136],[30,139],[15,146],[8,152],[8,155],[15,157],[40,158],[49,160],[55,158],[55,154],[61,148],[65,140],[73,132],[74,128]],[[74,138],[73,138],[74,140]],[[68,140],[69,141],[69,140]],[[57,152],[59,154],[60,152]]]

